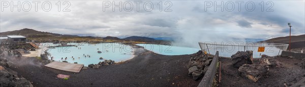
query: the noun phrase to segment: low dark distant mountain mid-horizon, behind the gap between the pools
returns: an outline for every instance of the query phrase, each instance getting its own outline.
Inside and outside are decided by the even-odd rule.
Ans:
[[[124,38],[124,40],[129,40],[129,41],[139,41],[139,42],[155,42],[157,40],[153,38],[147,38],[147,37],[139,37],[139,36],[131,36]]]

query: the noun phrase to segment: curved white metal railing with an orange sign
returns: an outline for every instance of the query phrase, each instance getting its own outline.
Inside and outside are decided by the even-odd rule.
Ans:
[[[227,44],[216,44],[216,43],[203,43],[199,42],[199,46],[202,51],[209,54],[215,54],[219,51],[219,56],[231,58],[231,55],[237,51],[253,51],[253,58],[260,58],[261,55],[266,54],[269,56],[279,56],[282,51],[286,51],[288,44],[280,43],[227,43]]]

